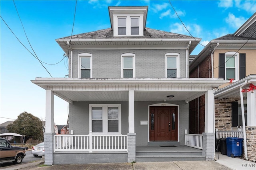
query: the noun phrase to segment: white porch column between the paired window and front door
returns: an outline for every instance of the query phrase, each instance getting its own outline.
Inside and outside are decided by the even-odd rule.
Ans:
[[[129,90],[129,133],[134,133],[134,90]]]

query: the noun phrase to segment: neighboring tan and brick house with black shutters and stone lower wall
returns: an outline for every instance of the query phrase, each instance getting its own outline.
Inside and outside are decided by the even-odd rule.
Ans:
[[[256,85],[256,13],[235,33],[210,41],[190,63],[189,72],[190,77],[226,80],[226,84],[214,90],[215,128],[244,127],[241,105],[244,103],[246,135],[248,140],[255,140],[251,134],[256,133],[256,93],[243,92],[241,98],[240,87],[244,84],[241,89],[248,89]],[[190,133],[204,132],[204,98],[203,95],[189,103]],[[248,157],[255,160],[255,143],[247,143],[251,145]]]

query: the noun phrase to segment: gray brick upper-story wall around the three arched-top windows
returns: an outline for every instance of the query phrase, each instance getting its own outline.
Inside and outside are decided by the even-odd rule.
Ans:
[[[78,55],[81,53],[92,54],[92,78],[120,78],[121,55],[124,53],[135,54],[136,78],[165,78],[165,54],[178,53],[180,54],[180,77],[185,77],[185,49],[73,50],[73,78],[78,77]],[[71,57],[69,57],[69,64],[70,59]]]

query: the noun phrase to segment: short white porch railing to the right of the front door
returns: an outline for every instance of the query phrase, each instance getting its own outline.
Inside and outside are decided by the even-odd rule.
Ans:
[[[188,134],[185,129],[185,146],[203,149],[203,135]]]

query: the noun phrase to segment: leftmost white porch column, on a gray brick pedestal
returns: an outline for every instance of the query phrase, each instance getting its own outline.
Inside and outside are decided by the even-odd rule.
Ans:
[[[46,90],[45,133],[54,133],[54,94]]]

